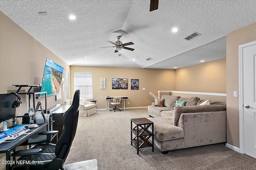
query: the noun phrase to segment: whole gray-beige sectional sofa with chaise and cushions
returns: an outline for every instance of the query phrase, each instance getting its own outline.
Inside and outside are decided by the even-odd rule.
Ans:
[[[226,104],[200,105],[198,97],[162,96],[163,107],[148,106],[154,122],[154,143],[167,154],[169,150],[226,142]],[[175,107],[176,100],[185,106]]]

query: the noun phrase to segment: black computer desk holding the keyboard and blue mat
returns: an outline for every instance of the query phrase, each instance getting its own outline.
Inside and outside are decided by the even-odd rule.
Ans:
[[[0,143],[0,153],[6,153],[6,160],[10,161],[12,150],[16,149],[18,146],[20,146],[22,143],[24,143],[26,140],[28,140],[28,138],[32,137],[34,134],[36,134],[38,131],[40,131],[47,125],[48,125],[48,123],[38,124],[38,127],[29,128],[30,131],[28,131],[28,133],[25,133],[24,135],[18,137],[14,141],[8,141],[8,142],[5,141],[3,143]],[[11,164],[6,164],[6,170],[10,170],[10,167],[11,167]]]

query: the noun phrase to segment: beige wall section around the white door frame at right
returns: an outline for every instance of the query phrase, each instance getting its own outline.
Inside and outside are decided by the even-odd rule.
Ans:
[[[256,40],[256,23],[231,32],[226,37],[227,60],[227,143],[239,148],[238,45]],[[239,92],[238,92],[239,93]]]

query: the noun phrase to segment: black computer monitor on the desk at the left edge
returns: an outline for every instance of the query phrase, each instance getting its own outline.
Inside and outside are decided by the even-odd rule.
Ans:
[[[16,101],[14,94],[0,94],[0,122],[15,118],[16,109],[12,108],[14,101]],[[7,128],[5,123],[3,122],[3,130]]]

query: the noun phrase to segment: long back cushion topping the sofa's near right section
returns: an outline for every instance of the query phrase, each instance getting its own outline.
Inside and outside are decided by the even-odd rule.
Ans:
[[[197,113],[209,111],[225,111],[226,106],[222,105],[201,105],[201,106],[177,106],[173,111],[173,125],[177,125],[182,113]]]

